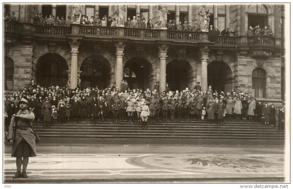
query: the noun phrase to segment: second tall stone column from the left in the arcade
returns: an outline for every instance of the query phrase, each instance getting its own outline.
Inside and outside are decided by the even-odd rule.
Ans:
[[[115,66],[115,71],[116,71],[116,79],[115,79],[115,84],[116,87],[121,88],[121,80],[123,78],[123,51],[125,44],[122,42],[118,42],[115,44],[116,47],[116,66]]]

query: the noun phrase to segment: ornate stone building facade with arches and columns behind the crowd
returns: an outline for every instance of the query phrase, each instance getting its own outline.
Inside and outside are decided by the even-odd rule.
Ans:
[[[201,5],[168,5],[168,19],[198,20]],[[35,13],[71,16],[71,5],[6,4],[16,21],[5,22],[6,91],[22,89],[31,79],[43,86],[107,87],[126,79],[131,88],[152,88],[160,81],[172,90],[201,82],[219,91],[240,86],[258,99],[284,102],[284,6],[279,4],[208,5],[210,25],[230,28],[230,36],[207,32],[148,30],[71,24],[33,24]],[[83,5],[90,16],[114,15],[115,5]],[[159,20],[156,5],[127,5],[127,16]],[[258,19],[256,19],[258,18]],[[255,20],[257,20],[257,23]],[[272,36],[246,35],[249,26],[270,25]]]

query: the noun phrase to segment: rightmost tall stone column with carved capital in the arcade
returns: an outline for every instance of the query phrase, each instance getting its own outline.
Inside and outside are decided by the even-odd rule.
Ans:
[[[209,48],[207,46],[200,47],[200,60],[201,60],[201,90],[207,90],[207,59],[209,57]]]

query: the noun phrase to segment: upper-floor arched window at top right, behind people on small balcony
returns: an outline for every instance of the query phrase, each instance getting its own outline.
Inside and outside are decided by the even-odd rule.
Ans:
[[[251,4],[248,7],[248,28],[254,28],[258,24],[260,28],[268,25],[268,9],[265,5]]]

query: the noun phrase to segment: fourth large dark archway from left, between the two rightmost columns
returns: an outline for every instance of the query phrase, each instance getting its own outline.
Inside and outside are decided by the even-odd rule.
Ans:
[[[193,68],[185,60],[172,60],[166,66],[166,83],[170,90],[184,90],[188,87],[188,77],[193,75]]]

